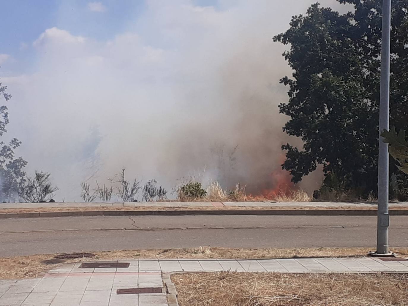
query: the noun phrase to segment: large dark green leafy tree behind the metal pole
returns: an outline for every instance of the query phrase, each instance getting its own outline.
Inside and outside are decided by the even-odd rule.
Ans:
[[[354,9],[342,15],[313,4],[274,37],[290,46],[283,55],[293,69],[281,79],[289,87],[289,101],[279,105],[289,116],[283,129],[304,142],[303,149],[282,146],[282,168],[299,182],[322,164],[326,184],[335,173],[346,188],[375,192],[382,1],[337,1]],[[408,1],[393,1],[390,119],[397,129],[408,120],[407,33]],[[390,171],[399,184],[407,183],[394,160]]]

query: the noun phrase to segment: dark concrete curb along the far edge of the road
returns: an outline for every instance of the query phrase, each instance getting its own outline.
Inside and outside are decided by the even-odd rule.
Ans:
[[[391,216],[407,216],[408,210],[390,210]],[[194,215],[259,215],[259,216],[376,216],[377,210],[363,209],[291,209],[291,210],[159,210],[159,211],[46,211],[29,213],[1,213],[0,219],[91,216],[194,216]]]

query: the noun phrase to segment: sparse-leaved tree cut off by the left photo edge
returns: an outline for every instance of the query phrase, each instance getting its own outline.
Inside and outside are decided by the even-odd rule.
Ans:
[[[0,99],[6,102],[11,99],[11,95],[6,92],[7,86],[0,82]],[[6,126],[9,124],[9,113],[6,105],[0,106],[0,137],[3,138],[7,132]],[[0,140],[0,200],[10,202],[18,195],[20,188],[25,182],[25,172],[23,168],[27,162],[22,157],[15,157],[14,150],[21,145],[17,138],[10,142]]]

